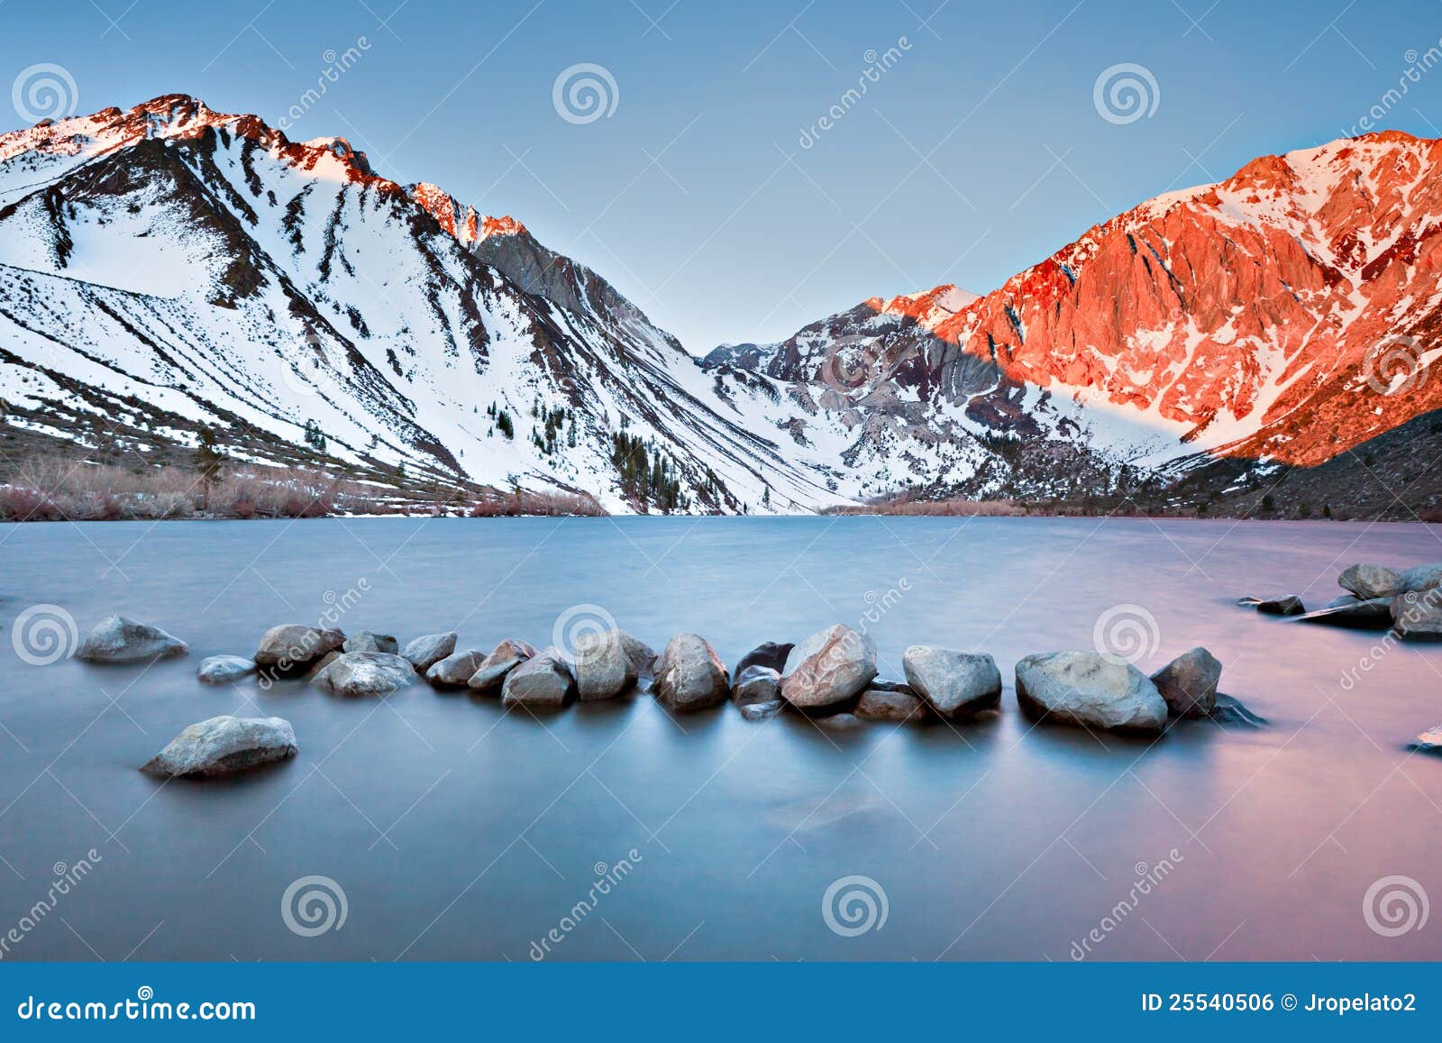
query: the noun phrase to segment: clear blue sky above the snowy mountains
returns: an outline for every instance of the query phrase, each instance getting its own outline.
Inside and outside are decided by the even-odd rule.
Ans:
[[[1341,137],[1439,46],[1442,4],[0,0],[0,88],[53,62],[81,113],[189,92],[274,123],[360,38],[291,137],[522,219],[704,352],[874,294],[992,289],[1141,199]],[[591,123],[552,104],[581,62],[617,87]],[[1093,87],[1123,62],[1159,100],[1113,123]],[[1380,126],[1442,136],[1442,66],[1407,87]]]

